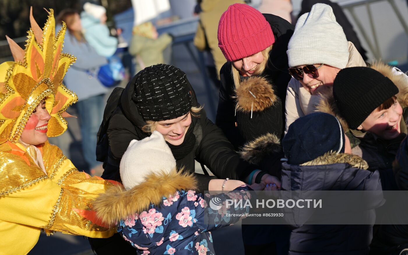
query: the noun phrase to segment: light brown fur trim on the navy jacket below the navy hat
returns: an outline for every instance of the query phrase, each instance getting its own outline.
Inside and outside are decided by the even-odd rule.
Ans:
[[[348,153],[328,152],[324,155],[303,163],[301,166],[321,166],[335,163],[348,163],[350,166],[360,169],[368,169],[368,163],[361,157]]]

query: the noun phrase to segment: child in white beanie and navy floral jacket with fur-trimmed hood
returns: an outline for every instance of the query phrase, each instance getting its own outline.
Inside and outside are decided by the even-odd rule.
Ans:
[[[94,209],[103,222],[119,222],[118,232],[137,248],[137,254],[173,254],[184,250],[192,254],[214,254],[209,231],[239,220],[239,217],[226,217],[225,206],[216,212],[207,208],[203,194],[195,192],[196,179],[191,173],[177,171],[173,154],[157,131],[150,137],[130,142],[120,161],[120,176],[123,187],[114,187],[99,196]],[[251,197],[250,188],[242,181],[214,181],[221,181],[220,190],[235,188],[235,192],[216,195],[220,205],[236,196]],[[205,198],[214,196],[206,194]],[[231,215],[243,214],[248,209],[228,208]],[[209,220],[204,220],[206,215]]]

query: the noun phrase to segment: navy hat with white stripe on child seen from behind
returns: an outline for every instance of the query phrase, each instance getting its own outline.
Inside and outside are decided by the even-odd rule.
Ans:
[[[327,152],[344,153],[344,131],[328,113],[311,113],[295,120],[282,140],[288,163],[301,165]]]

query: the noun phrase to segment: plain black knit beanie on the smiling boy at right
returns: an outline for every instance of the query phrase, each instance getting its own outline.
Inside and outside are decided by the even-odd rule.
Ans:
[[[361,123],[383,102],[398,94],[397,86],[368,67],[340,70],[333,82],[333,96],[350,129]]]

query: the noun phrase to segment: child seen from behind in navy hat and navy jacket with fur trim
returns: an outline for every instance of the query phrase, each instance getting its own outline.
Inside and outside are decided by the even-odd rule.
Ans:
[[[295,120],[282,146],[288,159],[282,164],[282,190],[382,190],[378,171],[366,170],[366,161],[349,154],[339,120],[328,113]],[[374,213],[383,202],[378,197],[362,210]],[[289,255],[368,254],[372,238],[368,224],[301,225],[290,235]]]

